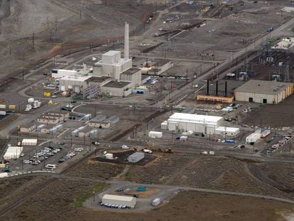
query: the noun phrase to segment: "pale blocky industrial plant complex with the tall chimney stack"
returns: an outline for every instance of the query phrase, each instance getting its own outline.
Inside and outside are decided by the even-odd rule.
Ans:
[[[109,50],[93,68],[84,65],[82,70],[55,69],[52,77],[59,80],[59,90],[83,93],[86,97],[95,97],[98,92],[117,97],[130,95],[142,84],[142,75],[140,69],[132,68],[129,58],[129,23],[125,23],[124,58],[120,51]]]

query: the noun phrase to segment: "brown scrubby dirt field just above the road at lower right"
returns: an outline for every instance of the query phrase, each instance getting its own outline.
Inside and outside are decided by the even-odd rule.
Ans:
[[[260,169],[258,164],[253,164],[256,168],[254,173],[251,173],[248,168],[251,164],[253,163],[232,158],[166,154],[143,169],[141,167],[129,168],[126,180],[294,198],[293,188],[290,187],[292,178],[283,179],[281,175],[276,176],[271,182],[260,178],[266,166],[268,166],[266,173],[269,174],[268,176],[276,174],[275,171],[281,171],[280,174],[290,176],[294,172],[290,164],[285,164],[284,167],[279,166],[280,170],[270,167],[268,163],[261,164],[263,167]],[[257,173],[258,171],[261,172]]]

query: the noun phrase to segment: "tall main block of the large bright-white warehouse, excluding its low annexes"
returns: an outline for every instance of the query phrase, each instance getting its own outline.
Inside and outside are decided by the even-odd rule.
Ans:
[[[216,133],[217,127],[224,122],[222,117],[175,113],[168,119],[169,131],[194,131],[204,134]]]

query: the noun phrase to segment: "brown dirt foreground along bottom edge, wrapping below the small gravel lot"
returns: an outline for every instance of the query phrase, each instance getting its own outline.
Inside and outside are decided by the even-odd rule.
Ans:
[[[166,205],[150,212],[101,212],[75,208],[75,203],[97,183],[55,180],[36,193],[6,220],[286,220],[293,216],[293,205],[271,200],[229,195],[182,192]],[[82,187],[82,188],[81,188]]]

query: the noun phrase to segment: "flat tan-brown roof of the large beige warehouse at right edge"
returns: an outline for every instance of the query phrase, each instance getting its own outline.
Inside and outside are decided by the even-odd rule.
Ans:
[[[244,85],[238,87],[235,92],[248,92],[254,94],[276,95],[285,90],[293,83],[276,82],[268,80],[249,80]]]

